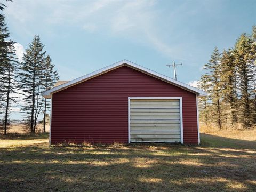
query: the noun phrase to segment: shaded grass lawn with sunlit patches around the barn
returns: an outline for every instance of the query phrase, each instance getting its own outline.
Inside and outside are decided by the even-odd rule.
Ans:
[[[256,191],[256,142],[48,146],[0,136],[0,191]]]

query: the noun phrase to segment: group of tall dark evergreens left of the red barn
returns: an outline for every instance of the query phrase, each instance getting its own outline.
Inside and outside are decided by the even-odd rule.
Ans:
[[[6,6],[0,3],[0,10]],[[59,79],[50,55],[46,55],[44,45],[38,35],[28,45],[22,61],[15,54],[14,41],[5,23],[5,15],[0,14],[0,128],[7,133],[10,126],[11,108],[22,100],[21,111],[30,133],[35,133],[38,117],[43,115],[45,132],[46,115],[50,108],[49,100],[41,93],[50,89]]]

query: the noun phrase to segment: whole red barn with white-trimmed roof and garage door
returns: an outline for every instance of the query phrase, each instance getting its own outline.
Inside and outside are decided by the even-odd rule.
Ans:
[[[204,91],[122,60],[43,92],[51,98],[50,144],[198,144]]]

